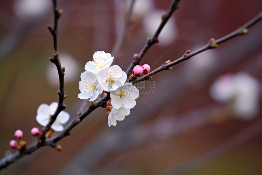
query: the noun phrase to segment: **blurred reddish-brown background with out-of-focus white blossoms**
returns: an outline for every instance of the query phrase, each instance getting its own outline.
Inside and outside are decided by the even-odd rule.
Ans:
[[[170,4],[136,0],[117,52],[112,49],[131,1],[58,0],[63,9],[58,48],[70,120],[89,104],[77,97],[78,82],[94,52],[114,52],[113,64],[125,71]],[[38,106],[58,100],[58,75],[48,59],[51,5],[51,0],[0,1],[2,156],[11,150],[16,129],[23,130],[28,144],[35,143],[30,130],[41,128]],[[262,1],[181,0],[179,6],[141,65],[154,70],[234,31],[261,11]],[[140,87],[137,105],[117,126],[109,128],[105,109],[98,108],[58,142],[61,152],[41,148],[0,174],[261,174],[261,31],[262,21],[248,35],[154,75],[154,87]]]

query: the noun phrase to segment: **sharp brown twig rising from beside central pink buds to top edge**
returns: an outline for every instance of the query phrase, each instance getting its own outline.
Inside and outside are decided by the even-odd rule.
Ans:
[[[172,15],[172,13],[178,9],[178,4],[179,4],[180,0],[173,0],[168,12],[166,14],[163,14],[161,16],[162,20],[160,25],[158,26],[157,31],[154,33],[154,35],[151,38],[147,38],[147,42],[144,45],[143,49],[140,51],[140,53],[138,54],[136,59],[133,59],[131,64],[129,65],[129,67],[126,70],[126,75],[129,76],[133,70],[133,67],[137,64],[140,63],[141,59],[143,58],[143,56],[147,53],[147,51],[150,49],[150,47],[158,42],[158,35],[160,34],[160,32],[162,31],[163,27],[165,26],[166,22],[168,21],[168,19],[170,18],[170,16]]]

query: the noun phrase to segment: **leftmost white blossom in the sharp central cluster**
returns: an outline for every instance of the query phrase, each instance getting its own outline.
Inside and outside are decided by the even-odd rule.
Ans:
[[[81,81],[79,82],[80,94],[78,98],[88,99],[89,101],[94,101],[97,99],[98,95],[103,92],[102,86],[97,80],[97,75],[90,71],[85,71],[81,74]]]

